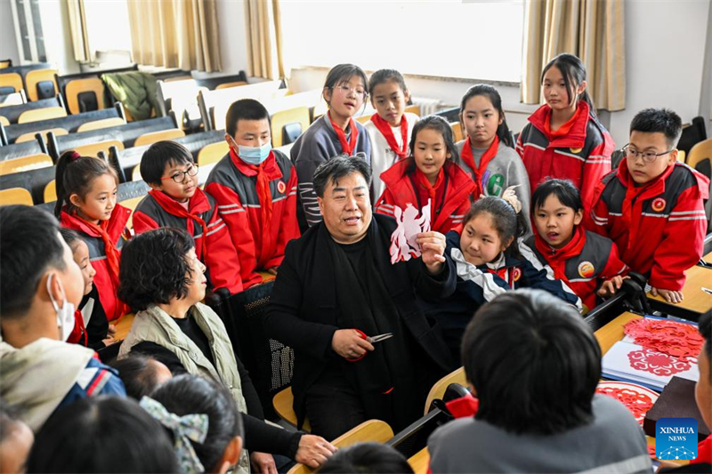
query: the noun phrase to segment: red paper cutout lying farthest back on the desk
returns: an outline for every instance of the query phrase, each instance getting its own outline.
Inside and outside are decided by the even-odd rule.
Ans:
[[[704,339],[694,325],[661,319],[635,319],[625,326],[628,336],[645,349],[687,360],[696,359]]]

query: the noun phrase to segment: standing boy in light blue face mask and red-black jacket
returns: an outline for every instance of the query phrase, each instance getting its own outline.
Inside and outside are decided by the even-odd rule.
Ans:
[[[225,118],[230,152],[210,172],[206,192],[218,204],[238,251],[244,289],[276,275],[287,242],[299,237],[296,173],[289,158],[271,149],[270,114],[253,99],[234,102]]]

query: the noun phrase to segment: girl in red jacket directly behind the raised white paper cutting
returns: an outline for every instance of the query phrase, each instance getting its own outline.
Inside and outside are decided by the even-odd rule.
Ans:
[[[470,209],[474,181],[456,165],[457,147],[452,129],[441,116],[417,122],[410,138],[411,157],[381,173],[384,194],[376,213],[393,215],[393,207],[415,205],[423,209],[430,200],[431,229],[445,234],[462,224]]]

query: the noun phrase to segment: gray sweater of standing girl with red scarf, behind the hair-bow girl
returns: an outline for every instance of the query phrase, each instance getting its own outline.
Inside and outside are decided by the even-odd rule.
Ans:
[[[473,170],[465,165],[462,160],[462,148],[465,146],[465,140],[457,142],[457,165],[460,165],[466,173],[474,179]],[[479,166],[480,159],[484,155],[485,149],[475,149],[473,148],[473,158],[474,164]],[[517,193],[517,198],[522,202],[522,213],[524,214],[524,221],[527,221],[527,235],[531,235],[531,221],[530,221],[530,201],[531,201],[531,189],[529,184],[529,175],[527,174],[527,169],[522,163],[522,158],[519,157],[517,152],[510,147],[507,147],[501,141],[499,142],[499,147],[497,149],[497,155],[490,160],[490,164],[487,165],[487,170],[482,176],[482,191],[485,196],[498,196],[501,197],[505,189],[510,186],[519,184],[520,186],[514,191]]]

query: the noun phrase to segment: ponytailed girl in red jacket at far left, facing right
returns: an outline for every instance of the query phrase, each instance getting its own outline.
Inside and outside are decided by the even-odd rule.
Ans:
[[[130,237],[126,222],[131,210],[117,204],[117,173],[105,161],[62,154],[57,162],[57,204],[61,227],[76,230],[89,247],[94,285],[109,322],[129,312],[117,298],[121,247]]]

